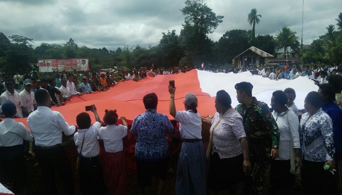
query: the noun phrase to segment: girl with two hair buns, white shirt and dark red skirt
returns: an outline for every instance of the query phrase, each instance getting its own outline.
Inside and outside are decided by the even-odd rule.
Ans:
[[[121,117],[124,125],[116,125],[118,114],[116,110],[106,110],[103,117],[106,127],[101,127],[99,139],[103,139],[105,156],[103,171],[105,183],[110,195],[125,195],[127,187],[126,157],[123,151],[122,138],[127,136],[128,124],[125,117]]]

